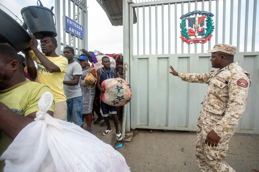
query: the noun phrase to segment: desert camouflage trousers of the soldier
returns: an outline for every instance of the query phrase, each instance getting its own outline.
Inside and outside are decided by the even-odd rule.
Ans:
[[[202,110],[201,113],[207,113]],[[210,114],[211,115],[211,114]],[[211,147],[205,144],[207,134],[213,130],[214,126],[198,122],[197,138],[196,138],[196,159],[201,171],[230,171],[235,170],[230,167],[225,160],[226,152],[228,150],[228,142],[235,133],[230,133],[228,136],[221,138],[217,147]]]

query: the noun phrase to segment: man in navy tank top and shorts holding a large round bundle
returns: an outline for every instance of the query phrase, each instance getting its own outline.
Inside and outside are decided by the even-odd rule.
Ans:
[[[104,56],[102,58],[102,64],[104,67],[99,68],[97,70],[97,88],[100,90],[101,93],[104,93],[105,90],[102,88],[103,81],[110,78],[117,78],[117,75],[116,75],[116,72],[114,72],[115,69],[110,67],[111,62],[108,56]],[[105,130],[103,135],[107,136],[112,131],[110,126],[110,121],[109,121],[109,114],[111,114],[116,128],[117,140],[120,141],[122,139],[122,135],[119,132],[119,128],[118,128],[117,107],[110,106],[104,103],[102,100],[100,101],[101,101],[101,109],[103,112],[104,121],[107,125],[107,130]]]

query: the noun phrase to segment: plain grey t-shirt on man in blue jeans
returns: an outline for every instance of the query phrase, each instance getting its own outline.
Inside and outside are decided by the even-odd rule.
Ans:
[[[67,65],[67,72],[64,76],[64,81],[73,80],[73,75],[82,75],[82,67],[76,61]],[[63,84],[63,90],[68,99],[82,96],[82,91],[79,83],[78,85],[74,86],[68,86]]]

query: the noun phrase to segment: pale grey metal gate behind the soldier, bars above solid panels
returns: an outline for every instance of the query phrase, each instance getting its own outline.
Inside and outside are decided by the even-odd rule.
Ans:
[[[130,69],[125,72],[133,96],[130,105],[125,107],[126,131],[130,127],[195,131],[207,85],[187,83],[173,77],[168,72],[168,66],[173,65],[181,73],[214,70],[209,61],[211,54],[204,52],[219,42],[238,46],[234,60],[239,61],[252,79],[246,111],[237,132],[259,134],[259,52],[258,42],[255,41],[257,0],[250,1],[253,10],[249,0],[239,0],[238,4],[234,4],[233,0],[127,3],[124,2],[123,6],[124,58],[126,65],[130,64]],[[242,3],[246,6],[245,11],[241,11]],[[230,11],[226,11],[226,5],[229,5]],[[198,6],[201,9],[197,9]],[[209,43],[187,45],[179,38],[179,18],[192,9],[214,13],[215,31]],[[223,9],[222,16],[219,9]],[[137,13],[136,26],[133,25],[133,10]],[[237,16],[233,16],[234,12]],[[250,35],[248,21],[251,15]],[[234,27],[235,23],[237,27]],[[240,26],[244,26],[244,33]]]

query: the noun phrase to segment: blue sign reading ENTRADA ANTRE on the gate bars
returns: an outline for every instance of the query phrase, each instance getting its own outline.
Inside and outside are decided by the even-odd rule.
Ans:
[[[84,27],[65,15],[65,30],[81,39],[84,39]]]

